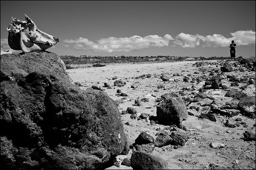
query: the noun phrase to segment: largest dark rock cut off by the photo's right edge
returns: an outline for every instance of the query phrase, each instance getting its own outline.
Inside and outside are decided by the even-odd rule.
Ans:
[[[255,95],[240,99],[238,109],[246,115],[250,115],[251,113],[255,114]]]

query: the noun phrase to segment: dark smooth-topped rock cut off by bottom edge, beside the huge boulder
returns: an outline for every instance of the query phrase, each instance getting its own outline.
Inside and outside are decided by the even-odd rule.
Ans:
[[[168,169],[168,162],[154,154],[134,151],[131,166],[133,169]]]

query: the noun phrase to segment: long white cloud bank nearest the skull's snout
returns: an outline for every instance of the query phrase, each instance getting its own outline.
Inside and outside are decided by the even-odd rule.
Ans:
[[[101,38],[97,42],[80,37],[76,40],[63,40],[66,43],[75,43],[74,48],[77,50],[92,50],[96,52],[130,52],[150,47],[168,46],[170,40],[174,40],[169,34],[160,37],[158,35],[148,35],[140,37],[134,35],[132,37],[109,37]]]

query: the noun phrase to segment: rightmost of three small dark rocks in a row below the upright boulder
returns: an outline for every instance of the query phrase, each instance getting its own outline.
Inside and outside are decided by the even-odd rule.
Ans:
[[[180,145],[180,146],[184,146],[189,139],[188,135],[182,130],[172,131],[172,134],[170,134],[170,137],[173,139],[172,145]]]

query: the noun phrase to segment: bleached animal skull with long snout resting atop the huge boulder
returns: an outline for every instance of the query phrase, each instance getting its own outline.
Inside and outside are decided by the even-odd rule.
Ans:
[[[58,38],[40,31],[28,15],[24,16],[27,21],[12,17],[7,28],[8,44],[13,50],[22,50],[24,53],[41,52],[59,42]]]

